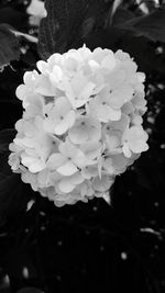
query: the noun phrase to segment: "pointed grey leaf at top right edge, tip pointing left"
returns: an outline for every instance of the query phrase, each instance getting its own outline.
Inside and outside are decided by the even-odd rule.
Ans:
[[[165,42],[165,5],[145,16],[134,18],[117,26],[133,32],[135,36]]]

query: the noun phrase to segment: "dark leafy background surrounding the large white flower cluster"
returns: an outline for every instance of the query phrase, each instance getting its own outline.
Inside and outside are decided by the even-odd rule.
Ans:
[[[164,292],[165,3],[46,0],[37,27],[30,2],[0,2],[0,293]],[[36,60],[84,43],[129,52],[146,74],[150,150],[116,180],[111,207],[94,200],[57,210],[8,166],[22,115],[14,91]]]

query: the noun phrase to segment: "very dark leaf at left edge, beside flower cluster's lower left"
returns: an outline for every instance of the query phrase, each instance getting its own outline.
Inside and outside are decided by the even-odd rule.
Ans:
[[[8,164],[9,144],[13,140],[14,129],[0,132],[0,225],[18,212],[26,210],[32,195],[30,185],[21,181],[20,174],[13,173]]]

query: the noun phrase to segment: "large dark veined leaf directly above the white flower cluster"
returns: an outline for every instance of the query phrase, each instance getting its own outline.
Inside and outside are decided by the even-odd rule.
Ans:
[[[100,0],[46,0],[41,21],[38,53],[43,59],[64,53],[105,22],[111,3]]]

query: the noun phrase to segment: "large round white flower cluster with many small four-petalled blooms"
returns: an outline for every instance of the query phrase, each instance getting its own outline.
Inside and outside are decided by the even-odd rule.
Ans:
[[[144,79],[130,55],[86,46],[53,54],[16,89],[23,117],[10,144],[13,172],[55,205],[107,196],[147,150]]]

